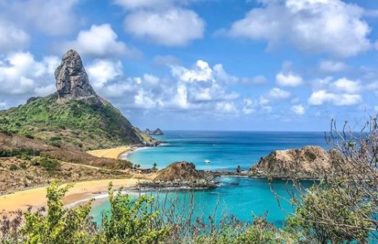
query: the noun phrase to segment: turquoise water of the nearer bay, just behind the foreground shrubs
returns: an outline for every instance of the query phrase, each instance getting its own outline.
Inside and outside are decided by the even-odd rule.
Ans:
[[[224,217],[230,216],[244,222],[251,222],[255,216],[266,216],[271,223],[282,226],[284,218],[294,210],[289,202],[293,187],[287,182],[277,180],[268,183],[263,179],[240,177],[222,177],[219,180],[221,186],[214,190],[147,192],[143,194],[154,196],[156,204],[160,207],[165,206],[161,209],[167,209],[167,205],[171,206],[170,203],[174,202],[174,211],[183,216],[189,216],[189,211],[192,209],[190,206],[192,206],[193,218],[198,217],[204,222],[208,220],[209,216],[214,217],[218,223]],[[303,183],[304,186],[310,184],[311,182]],[[165,202],[167,203],[164,204]],[[95,205],[92,216],[97,223],[101,222],[103,211],[108,209],[108,201]]]

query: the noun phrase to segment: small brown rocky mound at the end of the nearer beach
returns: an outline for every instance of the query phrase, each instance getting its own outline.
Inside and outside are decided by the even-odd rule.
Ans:
[[[213,188],[214,177],[196,169],[193,163],[176,162],[157,172],[152,182],[143,183],[144,187],[160,188]]]

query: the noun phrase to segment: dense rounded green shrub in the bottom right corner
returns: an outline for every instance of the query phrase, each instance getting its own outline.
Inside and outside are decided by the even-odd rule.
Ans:
[[[361,192],[342,187],[315,186],[304,195],[288,230],[301,239],[321,243],[365,243],[373,230],[372,206]]]

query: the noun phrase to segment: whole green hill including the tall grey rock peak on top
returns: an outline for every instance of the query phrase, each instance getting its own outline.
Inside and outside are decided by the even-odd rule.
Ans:
[[[55,77],[57,93],[0,111],[0,130],[82,150],[156,143],[95,94],[77,52],[65,54]]]

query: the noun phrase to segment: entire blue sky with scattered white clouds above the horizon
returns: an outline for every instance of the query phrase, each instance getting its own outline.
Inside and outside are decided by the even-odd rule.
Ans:
[[[358,130],[378,112],[378,1],[0,0],[0,110],[77,50],[136,126]]]

